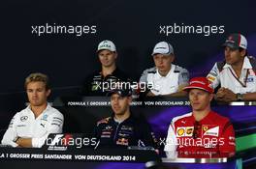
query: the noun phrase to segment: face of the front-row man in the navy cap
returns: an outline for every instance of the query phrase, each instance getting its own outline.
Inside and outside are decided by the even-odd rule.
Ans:
[[[129,109],[131,97],[120,97],[118,94],[112,94],[112,110],[115,115],[124,115]]]

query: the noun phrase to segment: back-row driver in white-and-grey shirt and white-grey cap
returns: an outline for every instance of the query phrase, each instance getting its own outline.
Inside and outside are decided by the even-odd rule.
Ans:
[[[152,56],[155,67],[144,70],[140,79],[140,83],[145,83],[148,87],[143,96],[185,97],[186,93],[182,89],[188,85],[189,72],[173,64],[173,46],[169,42],[158,42]]]

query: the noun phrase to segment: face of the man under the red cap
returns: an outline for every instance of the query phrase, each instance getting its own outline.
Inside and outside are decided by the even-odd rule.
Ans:
[[[192,109],[195,111],[204,111],[209,108],[212,94],[200,89],[191,89],[188,93]]]

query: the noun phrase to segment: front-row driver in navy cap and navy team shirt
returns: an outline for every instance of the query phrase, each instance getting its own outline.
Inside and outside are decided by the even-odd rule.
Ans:
[[[127,148],[128,146],[157,147],[157,140],[144,118],[130,111],[132,92],[114,89],[111,97],[112,116],[102,119],[94,129],[98,140],[96,148]]]

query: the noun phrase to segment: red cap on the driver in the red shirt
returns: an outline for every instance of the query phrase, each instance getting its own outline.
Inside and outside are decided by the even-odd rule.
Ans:
[[[207,77],[194,77],[189,81],[189,85],[183,88],[183,91],[189,91],[190,89],[201,89],[207,91],[210,94],[214,93],[214,89],[211,87]]]

